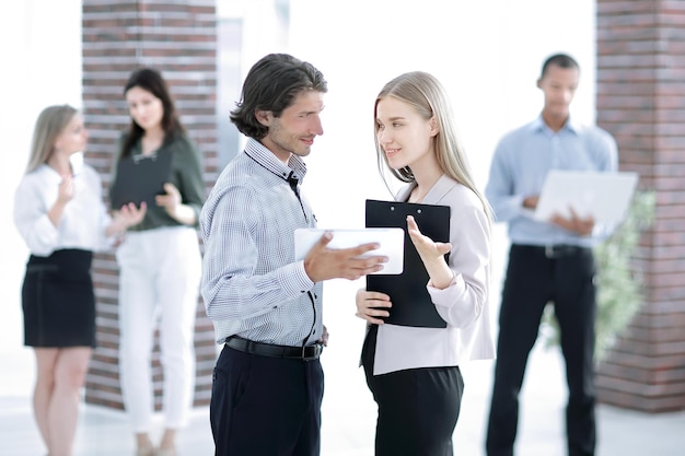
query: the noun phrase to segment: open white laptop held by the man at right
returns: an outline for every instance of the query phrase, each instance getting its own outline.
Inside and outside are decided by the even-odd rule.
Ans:
[[[638,183],[637,173],[602,173],[552,169],[547,173],[533,218],[549,220],[555,213],[570,217],[569,208],[599,223],[619,223]]]

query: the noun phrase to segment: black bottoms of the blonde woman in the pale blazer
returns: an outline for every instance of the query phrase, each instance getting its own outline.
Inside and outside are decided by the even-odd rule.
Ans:
[[[378,327],[364,340],[367,385],[379,406],[375,456],[452,456],[464,391],[458,366],[373,375]]]

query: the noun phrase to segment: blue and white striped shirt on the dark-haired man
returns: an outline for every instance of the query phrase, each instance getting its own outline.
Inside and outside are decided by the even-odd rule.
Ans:
[[[299,156],[286,166],[249,139],[205,202],[201,293],[218,343],[233,335],[292,347],[321,338],[323,284],[294,259],[294,230],[316,226],[294,191],[305,173]]]

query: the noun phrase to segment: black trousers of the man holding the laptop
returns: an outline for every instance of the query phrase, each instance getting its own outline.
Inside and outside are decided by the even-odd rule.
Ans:
[[[499,316],[495,383],[486,437],[488,456],[513,455],[519,391],[548,302],[554,303],[559,321],[561,352],[566,362],[568,455],[594,455],[594,274],[591,249],[568,248],[552,254],[543,247],[512,245]]]

